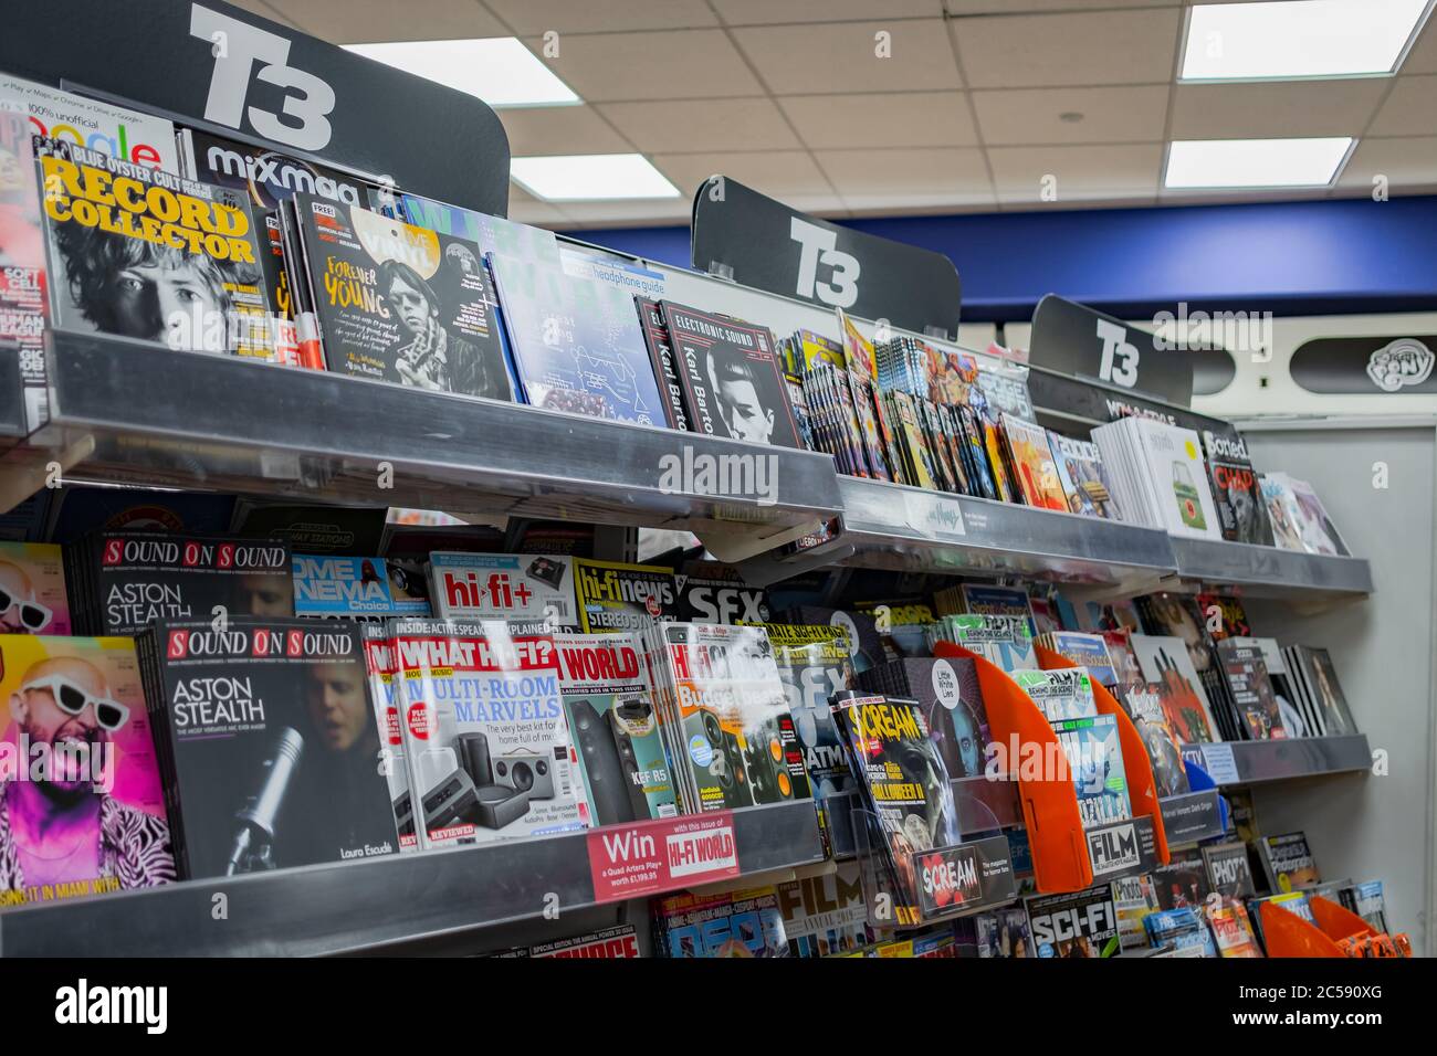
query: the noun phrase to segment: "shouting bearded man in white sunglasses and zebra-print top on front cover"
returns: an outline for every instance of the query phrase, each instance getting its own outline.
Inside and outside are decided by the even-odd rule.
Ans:
[[[50,760],[39,780],[27,772],[0,782],[0,891],[98,876],[115,878],[121,888],[172,881],[165,820],[96,784],[103,772],[91,759],[101,757],[112,777],[106,746],[129,721],[129,708],[114,700],[101,671],[75,657],[32,664],[10,694],[10,715],[32,750],[49,746]]]

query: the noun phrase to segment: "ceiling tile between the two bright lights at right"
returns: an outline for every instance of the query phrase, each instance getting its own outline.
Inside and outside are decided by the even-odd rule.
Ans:
[[[1391,80],[1282,80],[1178,85],[1174,139],[1361,135]]]

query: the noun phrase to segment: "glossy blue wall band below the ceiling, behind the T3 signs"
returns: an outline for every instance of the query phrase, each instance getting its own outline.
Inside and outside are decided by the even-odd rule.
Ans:
[[[1437,197],[846,223],[951,257],[973,322],[1029,319],[1045,293],[1127,318],[1180,300],[1276,315],[1437,309]],[[687,227],[575,236],[688,264]]]

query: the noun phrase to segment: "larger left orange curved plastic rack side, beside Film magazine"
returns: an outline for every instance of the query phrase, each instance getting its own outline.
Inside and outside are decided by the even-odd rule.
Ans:
[[[1002,668],[953,642],[935,642],[933,655],[973,661],[996,743],[1010,746],[1010,750],[1022,746],[1022,750],[1039,753],[1039,759],[1062,754],[1058,736],[1043,713]],[[1058,894],[1092,886],[1092,861],[1072,782],[1066,777],[1056,780],[1046,773],[1046,767],[1040,767],[1043,773],[1036,780],[1023,779],[1019,766],[1010,766],[1009,770],[1010,777],[1016,777],[1038,891]]]

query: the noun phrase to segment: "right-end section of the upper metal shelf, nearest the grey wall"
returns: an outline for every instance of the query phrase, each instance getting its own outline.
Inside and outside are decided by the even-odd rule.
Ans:
[[[1326,557],[1276,546],[1173,537],[1178,576],[1249,598],[1357,598],[1372,593],[1372,569],[1362,557]]]

